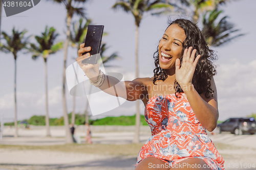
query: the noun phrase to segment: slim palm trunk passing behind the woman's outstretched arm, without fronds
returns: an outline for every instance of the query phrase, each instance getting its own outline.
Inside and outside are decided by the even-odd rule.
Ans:
[[[136,25],[136,78],[139,77],[139,63],[138,63],[138,48],[139,48],[139,26]],[[140,139],[140,101],[136,101],[136,129],[134,136],[134,143],[139,143]]]

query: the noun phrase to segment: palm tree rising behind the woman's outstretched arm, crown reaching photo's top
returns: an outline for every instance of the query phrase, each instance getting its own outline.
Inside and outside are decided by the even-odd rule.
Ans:
[[[132,13],[135,19],[136,26],[136,78],[139,77],[139,64],[138,64],[138,44],[139,44],[139,26],[142,20],[144,12],[151,12],[153,10],[159,9],[172,9],[173,7],[169,4],[166,4],[165,1],[156,0],[119,0],[117,1],[113,7],[113,9],[121,8],[124,12]],[[159,14],[159,13],[158,13]],[[139,112],[139,101],[136,103],[136,131],[134,142],[139,142],[139,127],[140,127],[140,112]]]

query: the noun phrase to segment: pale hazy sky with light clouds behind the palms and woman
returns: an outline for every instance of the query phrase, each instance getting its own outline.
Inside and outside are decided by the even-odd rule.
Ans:
[[[104,25],[107,36],[102,38],[109,46],[107,55],[117,52],[120,59],[109,63],[106,72],[120,72],[125,80],[135,79],[135,24],[131,14],[111,9],[115,0],[94,0],[84,4],[87,17],[93,24]],[[255,113],[256,104],[256,55],[254,52],[256,23],[253,20],[256,11],[255,0],[232,1],[222,6],[228,21],[234,23],[240,33],[245,35],[234,39],[221,47],[214,47],[218,55],[217,75],[214,77],[218,92],[219,120],[228,117],[246,116]],[[224,16],[222,15],[222,16]],[[29,35],[40,35],[45,27],[54,27],[59,36],[57,41],[66,39],[66,9],[63,5],[42,0],[38,5],[10,17],[2,10],[1,31],[11,34],[13,27]],[[168,18],[189,19],[189,13],[143,16],[139,29],[139,77],[152,77],[154,69],[153,54],[166,29]],[[78,20],[74,17],[73,21]],[[25,34],[25,35],[26,35]],[[31,42],[35,42],[31,37]],[[4,40],[1,40],[5,43]],[[69,47],[67,66],[75,62],[77,51]],[[48,90],[50,117],[63,115],[62,109],[62,71],[63,50],[48,58]],[[0,52],[0,115],[5,122],[14,120],[14,58],[11,54]],[[68,112],[73,109],[73,96],[67,96]],[[99,101],[100,102],[100,101]],[[87,99],[76,97],[76,113],[83,113]],[[104,116],[134,115],[136,102],[126,101],[120,107],[97,115],[92,119]],[[45,115],[45,67],[41,58],[32,60],[31,54],[19,53],[17,58],[17,116],[18,120],[32,115]],[[144,105],[140,104],[140,113],[144,113]]]

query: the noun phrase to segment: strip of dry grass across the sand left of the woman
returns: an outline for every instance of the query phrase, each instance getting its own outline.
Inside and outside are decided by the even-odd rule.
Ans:
[[[57,152],[74,152],[97,155],[134,155],[137,156],[144,143],[131,144],[63,144],[63,145],[5,145],[0,149],[7,150],[47,150]]]

